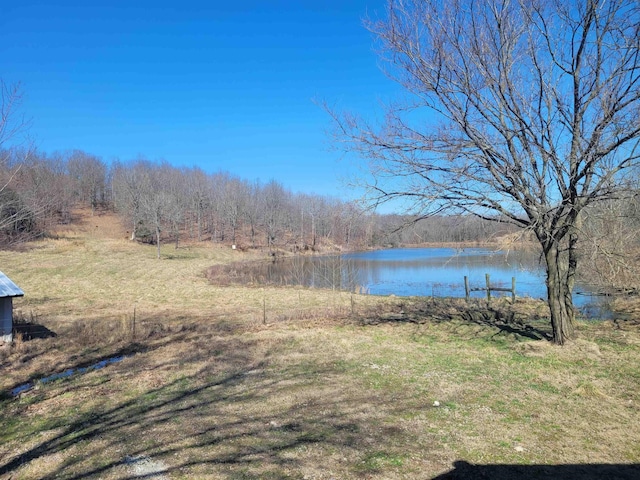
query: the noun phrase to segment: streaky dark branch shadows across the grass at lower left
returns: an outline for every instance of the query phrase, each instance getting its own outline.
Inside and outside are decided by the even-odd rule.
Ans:
[[[216,343],[212,335],[210,343],[211,361],[196,373],[134,398],[115,396],[71,415],[60,411],[40,428],[47,432],[42,440],[0,464],[0,477],[40,457],[62,454],[65,460],[47,478],[102,478],[114,469],[119,475],[128,472],[118,478],[160,478],[154,475],[184,476],[203,468],[215,471],[216,478],[239,478],[239,473],[241,478],[301,478],[285,475],[299,468],[299,449],[321,444],[360,451],[366,444],[361,425],[352,418],[367,398],[318,395],[282,404],[281,399],[301,387],[334,374],[331,366],[293,365],[274,373],[268,355],[256,358],[251,353],[255,345],[250,341],[224,338]],[[204,353],[185,348],[181,361],[197,363]],[[136,368],[137,357],[130,361]],[[150,367],[144,359],[140,362],[139,371]],[[82,391],[85,386],[68,387],[65,393],[73,388]],[[49,397],[56,395],[49,392]],[[81,455],[69,453],[78,449]],[[142,477],[130,472],[132,458],[149,456],[159,459],[160,470]]]

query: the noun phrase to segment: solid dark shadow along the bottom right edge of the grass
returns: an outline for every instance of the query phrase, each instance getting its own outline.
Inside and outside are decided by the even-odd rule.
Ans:
[[[432,480],[636,480],[639,464],[473,465],[464,461]]]

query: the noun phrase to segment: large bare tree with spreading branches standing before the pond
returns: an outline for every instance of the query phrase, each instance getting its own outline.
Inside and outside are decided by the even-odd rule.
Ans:
[[[367,26],[412,94],[380,124],[334,113],[347,148],[370,159],[372,199],[532,231],[565,343],[581,212],[623,195],[638,163],[640,4],[389,0]]]

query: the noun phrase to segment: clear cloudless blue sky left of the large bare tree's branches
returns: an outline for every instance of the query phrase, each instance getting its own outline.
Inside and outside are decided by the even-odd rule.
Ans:
[[[384,0],[0,0],[0,77],[47,153],[143,155],[348,197],[314,103],[371,114],[397,87],[368,14]],[[353,193],[353,192],[351,192]]]

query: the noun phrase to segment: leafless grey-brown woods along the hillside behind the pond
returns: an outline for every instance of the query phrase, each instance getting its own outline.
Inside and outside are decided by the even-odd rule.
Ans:
[[[244,248],[327,251],[425,242],[485,241],[504,226],[473,217],[376,214],[356,202],[293,193],[276,180],[146,159],[105,163],[79,150],[1,153],[0,242],[38,238],[69,223],[76,207],[113,210],[132,240],[184,240]],[[399,228],[411,224],[407,228]]]

